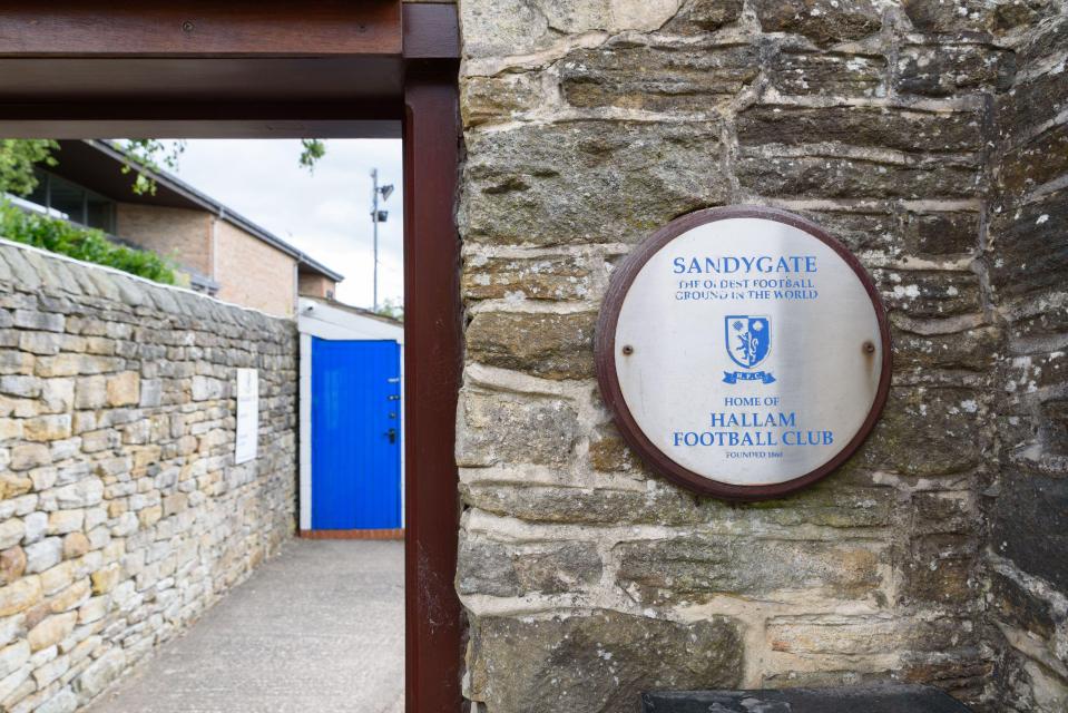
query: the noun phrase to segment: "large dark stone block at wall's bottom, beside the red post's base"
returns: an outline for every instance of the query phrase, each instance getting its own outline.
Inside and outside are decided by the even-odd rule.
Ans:
[[[472,697],[491,711],[616,713],[633,710],[641,691],[737,685],[742,638],[723,618],[481,617],[470,664]]]

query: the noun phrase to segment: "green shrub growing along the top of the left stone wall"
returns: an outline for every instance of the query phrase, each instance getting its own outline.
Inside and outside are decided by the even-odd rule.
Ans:
[[[164,284],[175,283],[170,263],[156,253],[116,245],[101,231],[28,213],[10,203],[0,204],[0,236]]]

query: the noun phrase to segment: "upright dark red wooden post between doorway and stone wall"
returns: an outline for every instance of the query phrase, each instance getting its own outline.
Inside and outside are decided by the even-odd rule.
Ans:
[[[404,88],[404,398],[406,705],[461,705],[461,608],[453,586],[459,526],[460,121],[455,72]]]

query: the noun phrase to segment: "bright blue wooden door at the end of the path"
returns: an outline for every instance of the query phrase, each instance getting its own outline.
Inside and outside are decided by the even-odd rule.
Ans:
[[[312,528],[401,527],[396,342],[312,340]]]

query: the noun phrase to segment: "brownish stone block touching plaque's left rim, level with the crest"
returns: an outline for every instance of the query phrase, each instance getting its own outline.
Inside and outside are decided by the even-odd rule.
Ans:
[[[468,324],[467,358],[546,379],[590,379],[596,321],[596,312],[479,312]]]

